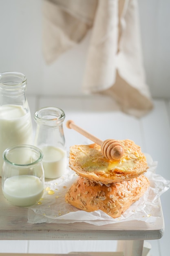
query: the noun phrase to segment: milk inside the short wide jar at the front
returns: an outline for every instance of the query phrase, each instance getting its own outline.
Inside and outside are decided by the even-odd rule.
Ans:
[[[33,175],[17,175],[4,181],[4,197],[14,205],[29,206],[40,200],[43,195],[43,184]]]

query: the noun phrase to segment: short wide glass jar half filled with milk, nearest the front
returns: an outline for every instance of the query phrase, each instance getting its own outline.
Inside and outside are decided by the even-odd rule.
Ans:
[[[7,148],[3,153],[2,192],[14,205],[37,203],[44,192],[42,151],[32,145]]]

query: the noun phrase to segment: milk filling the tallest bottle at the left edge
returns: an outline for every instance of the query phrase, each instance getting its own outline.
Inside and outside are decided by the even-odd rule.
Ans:
[[[6,148],[19,144],[32,144],[32,123],[30,112],[22,106],[0,106],[0,176],[2,153]]]

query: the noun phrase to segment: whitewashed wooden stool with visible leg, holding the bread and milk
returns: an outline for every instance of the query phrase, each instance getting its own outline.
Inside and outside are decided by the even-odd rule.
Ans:
[[[142,256],[144,240],[160,239],[163,231],[163,215],[154,223],[128,221],[102,226],[84,222],[31,224],[27,222],[27,209],[9,204],[0,187],[1,240],[119,240],[118,251],[123,250],[124,256]]]

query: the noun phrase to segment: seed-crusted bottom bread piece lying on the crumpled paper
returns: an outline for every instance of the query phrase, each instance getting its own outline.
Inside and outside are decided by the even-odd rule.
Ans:
[[[101,210],[118,218],[145,193],[149,185],[144,175],[108,185],[78,177],[66,193],[65,200],[78,209],[88,212]]]

